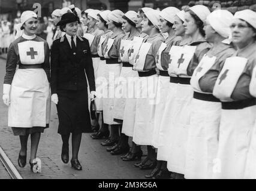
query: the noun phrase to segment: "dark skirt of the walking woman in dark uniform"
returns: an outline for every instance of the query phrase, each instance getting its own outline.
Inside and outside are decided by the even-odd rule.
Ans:
[[[88,109],[88,91],[58,90],[57,104],[59,128],[58,133],[91,133],[91,118]]]

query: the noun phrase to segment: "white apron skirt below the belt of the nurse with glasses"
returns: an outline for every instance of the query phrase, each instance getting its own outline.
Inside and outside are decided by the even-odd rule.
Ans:
[[[246,177],[249,178],[250,175],[254,177],[250,172],[254,170],[252,168],[255,166],[255,158],[254,163],[250,163],[252,158],[248,158],[251,155],[248,153],[254,130],[255,113],[256,106],[221,110],[219,148],[213,168],[213,178],[245,178],[246,161],[250,168],[246,171]]]

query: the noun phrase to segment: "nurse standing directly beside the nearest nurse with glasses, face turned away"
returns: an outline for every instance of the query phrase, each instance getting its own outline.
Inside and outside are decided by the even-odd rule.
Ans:
[[[232,19],[229,11],[216,10],[204,24],[206,40],[213,46],[201,59],[191,78],[194,98],[186,151],[187,179],[212,178],[221,121],[221,101],[212,95],[212,90],[225,59],[235,51],[228,39]]]

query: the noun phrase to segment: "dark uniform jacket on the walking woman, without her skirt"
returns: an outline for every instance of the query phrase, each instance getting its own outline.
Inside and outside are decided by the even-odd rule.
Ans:
[[[66,36],[56,39],[51,54],[51,89],[84,90],[89,82],[90,91],[95,91],[94,67],[87,39],[77,36],[76,55],[74,56]],[[86,73],[86,75],[85,75]]]

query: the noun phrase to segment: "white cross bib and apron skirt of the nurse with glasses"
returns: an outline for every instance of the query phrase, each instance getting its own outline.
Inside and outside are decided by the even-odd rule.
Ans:
[[[218,76],[213,95],[222,101],[232,100],[231,94],[242,74],[246,58],[227,58]],[[219,148],[216,156],[218,168],[213,178],[243,178],[255,124],[256,106],[221,111]],[[215,166],[216,166],[215,165]]]

